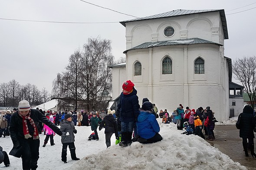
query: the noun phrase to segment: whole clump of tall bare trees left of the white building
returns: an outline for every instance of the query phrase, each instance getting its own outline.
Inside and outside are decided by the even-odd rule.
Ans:
[[[108,65],[113,64],[111,41],[89,38],[83,51],[75,51],[69,57],[66,71],[58,74],[53,81],[53,95],[78,107],[86,103],[87,110],[95,109],[98,103],[106,102],[105,94],[112,90],[112,72]],[[62,107],[62,106],[58,106]]]

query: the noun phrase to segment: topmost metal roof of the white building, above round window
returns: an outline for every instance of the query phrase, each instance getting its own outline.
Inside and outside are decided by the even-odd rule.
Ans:
[[[120,23],[123,26],[126,26],[126,22],[132,22],[132,21],[140,21],[140,20],[146,20],[146,19],[157,19],[157,18],[166,18],[166,17],[173,17],[173,16],[181,16],[181,15],[190,15],[190,14],[197,14],[197,13],[209,13],[209,12],[220,12],[220,19],[222,22],[222,28],[224,32],[224,38],[228,39],[228,32],[227,32],[227,25],[226,25],[226,16],[225,16],[225,11],[224,10],[173,10],[170,12],[166,13],[160,13],[157,15],[152,15],[152,16],[146,16],[142,18],[136,18],[136,19],[130,19],[126,21],[121,21]]]

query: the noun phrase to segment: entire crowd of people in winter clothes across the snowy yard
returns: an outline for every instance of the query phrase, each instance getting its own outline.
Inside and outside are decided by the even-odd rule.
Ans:
[[[22,158],[22,167],[24,170],[34,170],[37,168],[39,159],[39,134],[42,132],[46,135],[43,147],[46,147],[50,139],[50,144],[53,146],[54,136],[61,136],[62,154],[61,160],[67,163],[67,147],[71,153],[72,160],[80,160],[75,154],[75,135],[77,130],[75,126],[91,126],[93,131],[93,139],[99,140],[99,130],[105,128],[105,143],[107,148],[111,146],[111,137],[115,134],[116,144],[121,147],[127,147],[132,142],[140,142],[142,144],[155,143],[163,138],[159,134],[160,126],[157,119],[161,119],[162,123],[174,123],[177,125],[177,130],[185,131],[181,134],[199,135],[201,138],[213,141],[215,139],[214,127],[217,120],[214,117],[214,112],[207,106],[205,109],[186,109],[180,104],[169,115],[167,109],[160,109],[158,115],[157,106],[149,101],[148,98],[143,98],[140,107],[137,90],[131,80],[127,80],[122,85],[120,101],[117,106],[117,111],[108,110],[102,112],[85,112],[77,110],[68,112],[52,112],[43,111],[42,109],[31,109],[30,103],[22,100],[19,103],[19,108],[13,111],[7,110],[1,112],[0,115],[0,138],[3,136],[11,137],[13,141],[13,149],[10,155]],[[250,106],[249,106],[250,107]],[[251,150],[253,157],[254,153],[254,134],[252,128],[255,128],[255,117],[251,114],[253,109],[248,106],[244,108],[241,116],[240,137],[243,138],[243,147],[248,156],[247,149]],[[248,120],[247,120],[248,119]],[[246,124],[249,121],[249,125]],[[253,120],[253,121],[252,121]],[[246,125],[245,125],[246,124]],[[58,127],[60,126],[60,128]],[[204,133],[202,130],[204,129]],[[248,133],[247,133],[248,132]],[[91,136],[92,136],[91,135]],[[207,138],[205,138],[207,135]],[[91,140],[92,138],[89,138]],[[249,140],[247,142],[247,139]],[[1,148],[0,148],[1,149]],[[2,157],[1,157],[2,156]],[[6,167],[10,166],[10,161],[6,152],[0,150],[0,161]],[[1,163],[1,162],[0,162]]]

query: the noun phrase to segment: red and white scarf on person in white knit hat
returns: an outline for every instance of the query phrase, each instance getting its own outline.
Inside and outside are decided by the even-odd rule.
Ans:
[[[33,139],[39,139],[39,134],[38,134],[38,130],[36,128],[36,125],[35,125],[33,119],[30,118],[30,112],[29,112],[29,114],[27,114],[25,116],[21,115],[20,112],[19,112],[19,115],[20,115],[20,117],[22,117],[23,134],[25,136],[25,139],[28,139],[28,138],[32,137],[30,135],[30,131],[29,131],[26,119],[28,119],[30,121],[30,124],[34,128]]]

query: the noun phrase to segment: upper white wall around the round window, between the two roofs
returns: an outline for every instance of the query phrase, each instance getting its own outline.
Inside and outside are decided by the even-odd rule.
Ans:
[[[174,28],[174,35],[171,37],[164,35],[164,29],[167,26]],[[223,29],[219,12],[127,22],[125,36],[126,49],[144,42],[196,37],[223,44]]]

